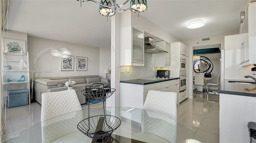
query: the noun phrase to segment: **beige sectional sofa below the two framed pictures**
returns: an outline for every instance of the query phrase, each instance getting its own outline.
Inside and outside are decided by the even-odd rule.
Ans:
[[[107,86],[106,79],[100,78],[98,75],[35,78],[35,100],[41,104],[42,93],[67,90],[68,87],[65,86],[65,82],[69,79],[76,81],[74,89],[80,104],[85,104],[86,102],[85,96],[81,93],[81,90],[84,90],[86,86],[90,86],[93,83],[102,83],[104,86]]]

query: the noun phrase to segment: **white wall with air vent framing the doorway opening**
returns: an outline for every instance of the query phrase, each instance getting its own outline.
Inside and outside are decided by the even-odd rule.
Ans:
[[[232,35],[232,34],[237,34],[238,31],[230,32],[230,33],[222,33],[218,35],[209,35],[209,36],[204,36],[204,37],[197,37],[197,38],[191,38],[191,39],[184,39],[181,40],[182,43],[188,45],[189,47],[189,58],[187,58],[187,63],[188,63],[188,68],[190,71],[189,74],[187,75],[188,77],[188,86],[187,86],[187,91],[189,91],[189,98],[192,98],[193,96],[193,79],[192,79],[192,66],[193,66],[193,47],[196,46],[203,46],[203,45],[212,45],[212,44],[220,44],[220,48],[224,49],[224,36],[226,35]],[[202,38],[207,38],[210,37],[209,41],[202,41]],[[221,75],[222,76],[222,75]]]

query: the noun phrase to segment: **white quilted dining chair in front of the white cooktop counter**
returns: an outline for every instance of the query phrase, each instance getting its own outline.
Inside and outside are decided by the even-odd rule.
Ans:
[[[177,93],[149,90],[143,109],[141,132],[132,135],[132,139],[147,143],[175,143],[177,138]],[[168,120],[168,123],[165,120]]]

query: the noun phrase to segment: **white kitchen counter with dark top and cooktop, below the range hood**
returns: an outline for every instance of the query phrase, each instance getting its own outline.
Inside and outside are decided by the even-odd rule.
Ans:
[[[176,92],[178,94],[177,103],[179,103],[180,100],[186,99],[186,91],[184,97],[180,98],[179,96],[179,81],[179,77],[120,81],[120,106],[142,109],[148,90]]]

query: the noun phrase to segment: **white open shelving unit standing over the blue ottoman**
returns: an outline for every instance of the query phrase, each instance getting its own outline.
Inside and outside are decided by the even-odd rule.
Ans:
[[[26,69],[19,69],[18,65],[21,61],[24,60],[27,65]],[[8,90],[17,90],[17,89],[28,89],[28,103],[30,104],[30,78],[29,78],[29,62],[28,62],[28,52],[26,55],[6,55],[2,52],[2,108],[4,107],[4,98],[7,96],[6,91]],[[12,69],[5,69],[4,66],[10,65]],[[21,80],[21,76],[25,76],[25,81],[18,82]],[[7,79],[14,79],[14,81],[8,82]]]

